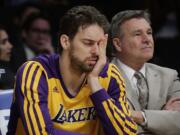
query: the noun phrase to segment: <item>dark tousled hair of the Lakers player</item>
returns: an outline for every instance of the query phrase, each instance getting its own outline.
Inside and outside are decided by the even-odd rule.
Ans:
[[[66,34],[70,39],[73,39],[80,26],[87,27],[91,24],[98,24],[103,28],[104,33],[108,33],[109,22],[106,16],[95,7],[86,5],[73,7],[60,20],[59,36]]]

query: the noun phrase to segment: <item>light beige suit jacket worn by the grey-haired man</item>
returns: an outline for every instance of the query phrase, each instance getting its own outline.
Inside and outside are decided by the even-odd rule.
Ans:
[[[127,99],[131,109],[140,110],[138,96],[133,90],[121,64],[117,58],[114,63],[123,75],[126,83]],[[147,127],[139,126],[138,133],[151,132],[150,135],[180,135],[180,112],[162,110],[167,100],[173,96],[180,96],[180,81],[175,70],[145,63],[146,78],[149,86],[149,101],[145,111]]]

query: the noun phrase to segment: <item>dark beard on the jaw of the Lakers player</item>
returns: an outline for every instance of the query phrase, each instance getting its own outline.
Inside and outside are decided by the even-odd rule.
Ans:
[[[86,64],[85,61],[88,59],[85,59],[84,61],[80,60],[75,54],[74,54],[74,49],[72,48],[70,53],[70,62],[71,62],[71,67],[78,72],[81,73],[88,73],[91,72],[94,68],[94,65]]]

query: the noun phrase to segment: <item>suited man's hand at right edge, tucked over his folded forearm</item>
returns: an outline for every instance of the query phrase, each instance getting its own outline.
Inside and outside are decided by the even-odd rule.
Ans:
[[[163,109],[180,112],[180,97],[170,98]]]

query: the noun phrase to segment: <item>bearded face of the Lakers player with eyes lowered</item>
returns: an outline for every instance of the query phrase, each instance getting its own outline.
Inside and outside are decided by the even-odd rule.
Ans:
[[[99,42],[102,37],[103,29],[94,24],[80,27],[73,39],[67,38],[65,49],[73,72],[88,73],[93,70],[99,58]]]

